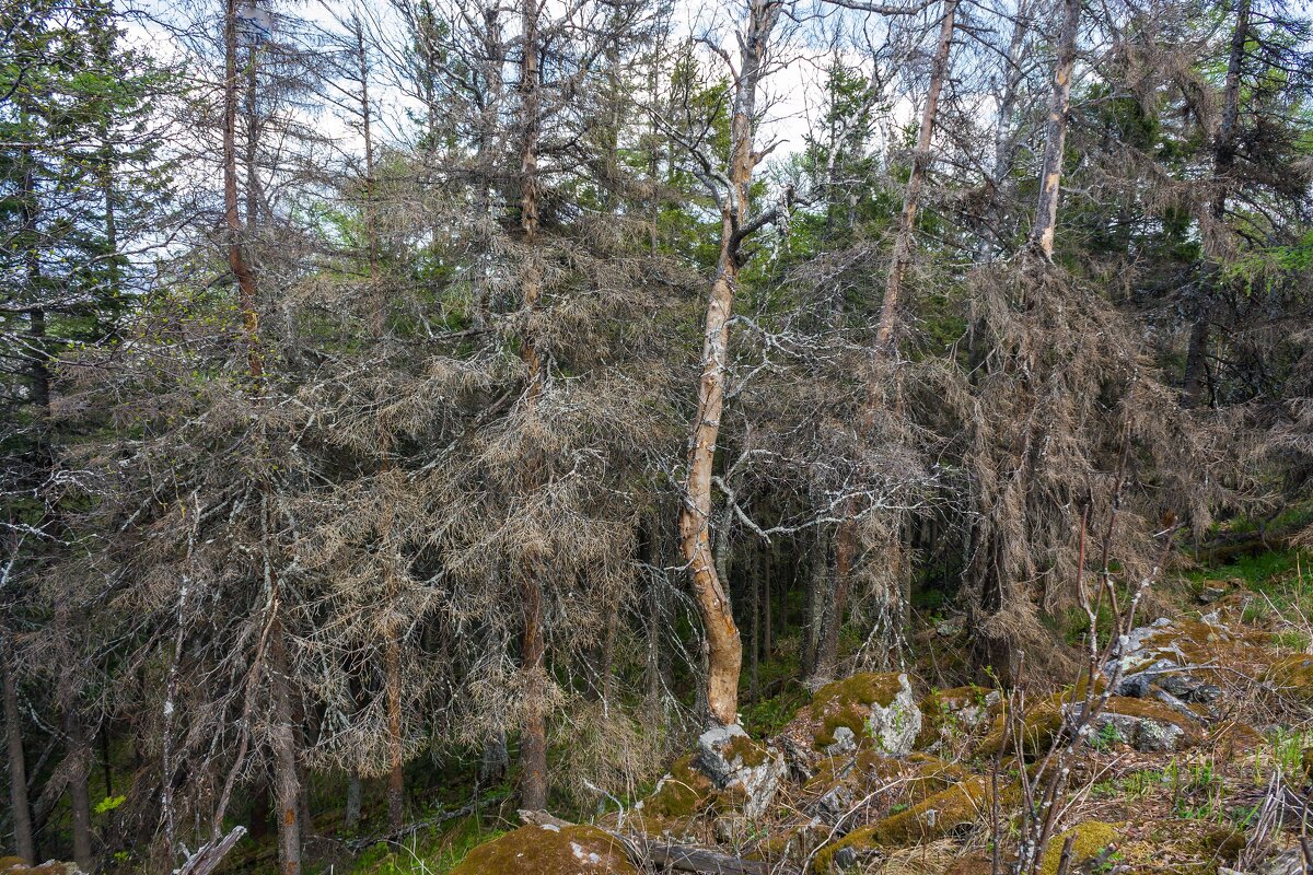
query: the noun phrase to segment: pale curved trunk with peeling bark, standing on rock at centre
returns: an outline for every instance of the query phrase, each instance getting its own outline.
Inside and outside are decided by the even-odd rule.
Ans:
[[[702,329],[702,367],[697,383],[697,413],[688,439],[688,478],[679,512],[679,542],[688,563],[693,598],[706,635],[708,716],[722,725],[738,722],[738,682],[743,643],[725,584],[712,555],[712,468],[725,408],[729,366],[730,317],[739,274],[739,243],[750,231],[756,91],[764,76],[771,31],[780,14],[775,0],[751,0],[746,33],[739,39],[739,71],[730,119],[729,186],[721,193],[721,241],[706,299]]]

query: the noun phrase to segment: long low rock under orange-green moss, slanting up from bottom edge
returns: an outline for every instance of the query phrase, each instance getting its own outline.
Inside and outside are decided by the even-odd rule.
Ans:
[[[815,855],[815,871],[822,875],[842,872],[882,847],[903,847],[956,834],[976,825],[989,807],[989,782],[981,777],[969,778],[906,811],[852,830]]]

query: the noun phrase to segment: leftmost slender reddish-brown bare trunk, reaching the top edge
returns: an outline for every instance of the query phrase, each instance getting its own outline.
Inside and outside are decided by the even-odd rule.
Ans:
[[[226,0],[223,21],[223,222],[228,232],[228,269],[238,281],[238,307],[247,341],[247,370],[259,388],[264,379],[260,353],[260,316],[255,274],[242,252],[242,216],[238,214],[238,0]]]

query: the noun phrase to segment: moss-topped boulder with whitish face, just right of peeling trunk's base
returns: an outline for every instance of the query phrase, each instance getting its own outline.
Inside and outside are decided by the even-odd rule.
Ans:
[[[906,674],[868,672],[827,683],[780,733],[786,749],[814,765],[822,756],[871,748],[884,756],[911,752],[920,708]]]

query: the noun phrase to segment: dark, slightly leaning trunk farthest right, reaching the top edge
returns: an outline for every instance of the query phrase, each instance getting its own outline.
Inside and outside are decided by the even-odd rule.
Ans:
[[[1221,247],[1217,237],[1222,234],[1226,222],[1226,194],[1228,176],[1236,167],[1236,139],[1239,126],[1239,76],[1245,63],[1245,43],[1249,41],[1250,10],[1253,0],[1237,0],[1236,26],[1232,30],[1230,55],[1226,62],[1226,84],[1222,88],[1222,114],[1217,125],[1217,135],[1213,139],[1213,182],[1217,192],[1213,195],[1209,213],[1216,224],[1211,232],[1205,232],[1204,247],[1213,262],[1208,268],[1205,286],[1200,291],[1200,300],[1195,307],[1194,324],[1190,329],[1190,345],[1186,352],[1184,387],[1182,388],[1182,404],[1184,407],[1199,407],[1204,400],[1204,388],[1208,384],[1208,336],[1209,317],[1212,315],[1213,289],[1218,278],[1217,261]]]

